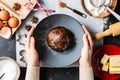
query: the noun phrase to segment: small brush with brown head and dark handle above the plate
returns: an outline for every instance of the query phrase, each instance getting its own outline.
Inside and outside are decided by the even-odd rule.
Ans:
[[[59,6],[62,7],[62,8],[66,7],[66,8],[68,8],[68,9],[72,10],[73,12],[75,12],[76,14],[84,17],[84,18],[87,17],[86,14],[84,14],[84,13],[82,13],[82,12],[76,10],[76,9],[72,9],[71,7],[67,6],[65,3],[61,2],[61,1],[59,2]]]

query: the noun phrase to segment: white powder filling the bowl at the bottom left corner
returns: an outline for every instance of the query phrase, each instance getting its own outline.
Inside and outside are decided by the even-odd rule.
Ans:
[[[0,80],[16,80],[17,66],[10,60],[0,60],[0,76],[5,75]]]

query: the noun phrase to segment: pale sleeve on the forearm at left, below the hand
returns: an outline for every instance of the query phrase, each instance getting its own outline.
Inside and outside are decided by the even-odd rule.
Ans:
[[[40,67],[27,67],[25,80],[40,80]]]

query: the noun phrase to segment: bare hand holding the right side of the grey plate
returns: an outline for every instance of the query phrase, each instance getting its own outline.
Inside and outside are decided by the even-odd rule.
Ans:
[[[82,28],[85,34],[83,35],[84,46],[81,50],[81,58],[79,59],[79,64],[80,64],[80,67],[91,67],[93,41],[86,27],[82,25]]]

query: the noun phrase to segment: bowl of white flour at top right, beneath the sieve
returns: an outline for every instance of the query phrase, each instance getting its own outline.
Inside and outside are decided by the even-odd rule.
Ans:
[[[100,5],[102,4],[102,0],[92,0],[94,4]],[[105,0],[104,4],[100,7],[96,7],[91,3],[91,0],[82,0],[82,6],[86,13],[90,16],[103,18],[107,17],[110,13],[107,11],[105,6],[110,7],[112,10],[116,8],[117,0]]]

